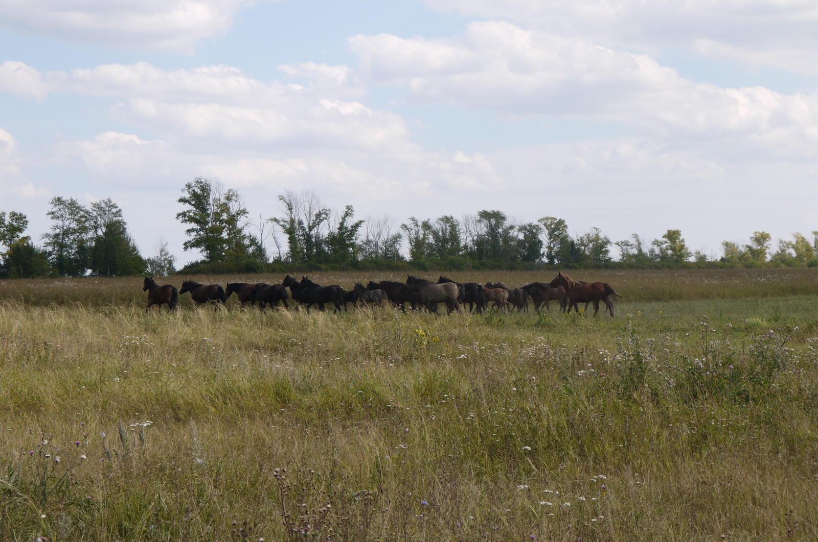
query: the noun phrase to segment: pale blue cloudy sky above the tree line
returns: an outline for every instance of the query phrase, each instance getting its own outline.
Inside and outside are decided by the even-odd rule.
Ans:
[[[185,183],[358,218],[500,210],[719,255],[818,230],[814,0],[0,0],[0,211]]]

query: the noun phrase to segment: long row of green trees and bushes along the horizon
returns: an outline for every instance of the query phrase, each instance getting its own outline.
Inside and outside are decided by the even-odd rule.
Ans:
[[[712,264],[746,267],[818,266],[818,231],[780,239],[773,250],[769,233],[758,231],[748,242],[722,242],[722,255],[691,251],[678,229],[660,238],[612,242],[599,228],[571,234],[565,220],[544,216],[518,223],[503,211],[483,210],[456,218],[410,216],[398,224],[389,215],[356,219],[353,206],[326,207],[316,193],[287,191],[278,196],[276,216],[251,220],[236,189],[197,177],[182,188],[176,218],[186,227],[185,251],[200,259],[182,272],[262,272],[284,269],[402,267],[406,269],[531,269],[616,265],[672,266]],[[0,212],[0,276],[115,277],[174,273],[176,258],[160,239],[155,254],[144,257],[133,241],[123,212],[110,198],[89,207],[74,198],[52,198],[51,228],[42,245],[25,236],[28,219],[20,212]],[[613,259],[611,250],[618,248]]]

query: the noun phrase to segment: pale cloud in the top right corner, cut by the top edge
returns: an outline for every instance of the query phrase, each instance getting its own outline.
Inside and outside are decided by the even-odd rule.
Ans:
[[[818,73],[818,6],[811,0],[425,0],[437,10],[515,20],[608,47],[688,47],[753,66]]]

